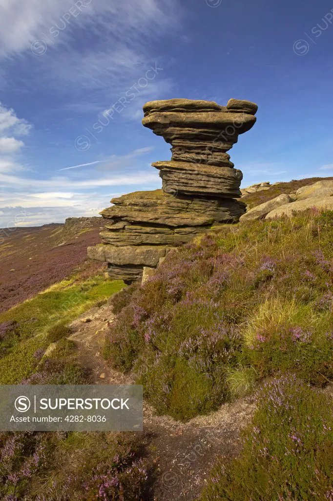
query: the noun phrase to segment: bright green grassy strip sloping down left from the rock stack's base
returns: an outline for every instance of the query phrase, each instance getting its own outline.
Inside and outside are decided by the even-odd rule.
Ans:
[[[88,278],[81,284],[72,282],[55,284],[0,314],[0,325],[14,321],[17,326],[14,342],[9,346],[7,343],[0,359],[0,384],[17,384],[29,377],[36,367],[33,354],[37,349],[46,348],[50,342],[65,335],[65,324],[123,287],[121,281],[105,281],[100,276]],[[2,340],[0,346],[4,342]]]

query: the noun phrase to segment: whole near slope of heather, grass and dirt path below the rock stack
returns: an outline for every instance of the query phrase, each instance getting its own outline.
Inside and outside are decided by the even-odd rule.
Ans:
[[[2,384],[137,382],[145,398],[143,434],[1,432],[3,498],[330,499],[332,215],[219,225],[143,285],[75,264],[3,312]],[[29,231],[17,255],[39,235],[55,271],[98,229]]]

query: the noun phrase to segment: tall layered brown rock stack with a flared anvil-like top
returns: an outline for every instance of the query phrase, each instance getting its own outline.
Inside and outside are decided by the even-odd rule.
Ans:
[[[142,124],[171,144],[171,160],[152,164],[162,189],[113,198],[100,212],[102,244],[88,247],[89,258],[106,261],[110,278],[130,283],[170,248],[215,223],[238,221],[245,212],[235,199],[242,174],[227,151],[254,125],[256,111],[254,103],[236,99],[226,107],[189,99],[146,103]]]

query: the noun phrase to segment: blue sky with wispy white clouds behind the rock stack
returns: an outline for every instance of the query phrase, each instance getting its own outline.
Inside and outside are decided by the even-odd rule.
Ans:
[[[0,0],[0,227],[161,187],[154,99],[247,99],[242,186],[333,176],[333,3]]]

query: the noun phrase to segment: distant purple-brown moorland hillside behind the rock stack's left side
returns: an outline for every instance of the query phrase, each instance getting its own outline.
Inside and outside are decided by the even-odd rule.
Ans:
[[[1,229],[0,312],[63,280],[86,262],[86,247],[99,240],[100,221],[69,218],[65,224]]]

